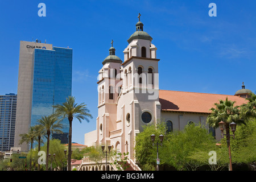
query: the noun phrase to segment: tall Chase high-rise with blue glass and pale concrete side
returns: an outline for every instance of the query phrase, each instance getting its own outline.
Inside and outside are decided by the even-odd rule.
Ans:
[[[43,115],[53,113],[53,105],[63,104],[72,90],[71,48],[52,47],[52,44],[20,41],[18,100],[14,146],[20,134],[38,125]],[[63,134],[54,134],[61,143],[68,143],[68,119],[63,121]]]

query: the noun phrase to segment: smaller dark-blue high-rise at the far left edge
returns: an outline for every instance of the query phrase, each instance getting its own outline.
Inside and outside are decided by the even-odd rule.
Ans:
[[[9,151],[14,146],[17,95],[0,96],[0,151]]]

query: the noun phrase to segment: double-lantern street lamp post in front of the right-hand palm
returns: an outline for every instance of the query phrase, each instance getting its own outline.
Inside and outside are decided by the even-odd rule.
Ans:
[[[234,133],[236,131],[236,126],[237,124],[232,122],[228,125],[228,123],[226,122],[219,122],[218,126],[220,127],[221,133],[222,133],[222,138],[224,137],[224,135],[226,135],[226,143],[228,145],[229,148],[229,167],[230,167],[230,171],[232,171],[232,159],[231,159],[231,150],[230,150],[230,131],[229,131],[229,127],[231,129],[231,131],[233,132],[233,138],[234,138]],[[226,134],[224,134],[224,130],[226,130]]]

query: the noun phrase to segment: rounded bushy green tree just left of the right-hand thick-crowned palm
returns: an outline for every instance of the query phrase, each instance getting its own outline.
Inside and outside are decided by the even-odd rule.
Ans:
[[[203,163],[194,160],[191,155],[203,150],[203,148],[214,146],[215,143],[216,141],[208,133],[205,126],[200,124],[187,125],[184,130],[174,131],[168,138],[164,149],[166,163],[179,171],[196,170]]]

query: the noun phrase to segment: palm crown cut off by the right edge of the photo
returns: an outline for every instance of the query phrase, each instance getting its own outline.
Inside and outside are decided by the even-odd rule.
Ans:
[[[246,119],[251,117],[256,117],[256,95],[254,93],[250,93],[250,97],[246,98],[249,102],[247,104],[243,104],[241,107],[241,115]]]

